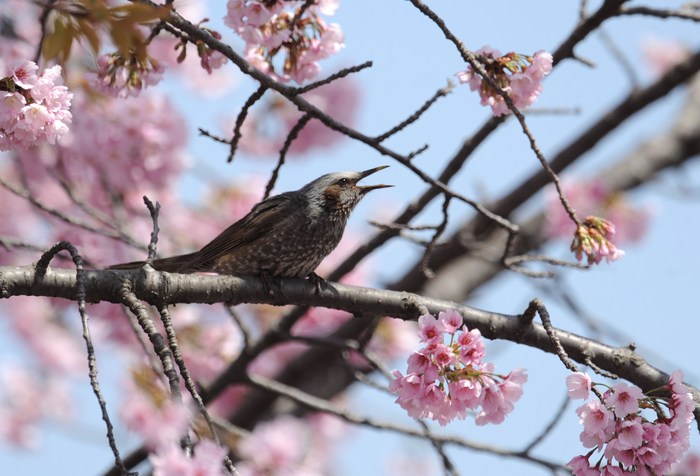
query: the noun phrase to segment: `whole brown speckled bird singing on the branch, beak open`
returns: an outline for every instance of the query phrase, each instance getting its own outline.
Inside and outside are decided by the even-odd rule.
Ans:
[[[367,192],[391,187],[359,186],[357,182],[386,167],[326,174],[295,192],[267,198],[201,250],[157,259],[152,266],[173,273],[319,279],[314,270],[338,246],[355,205]],[[144,264],[134,261],[110,269],[135,269]]]

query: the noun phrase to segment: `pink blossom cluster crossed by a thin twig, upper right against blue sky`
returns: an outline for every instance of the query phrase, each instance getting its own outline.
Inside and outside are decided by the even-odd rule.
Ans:
[[[519,109],[530,106],[542,91],[542,80],[552,70],[552,55],[538,51],[533,56],[518,53],[502,55],[500,51],[484,46],[476,52],[488,76],[513,100]],[[476,72],[471,65],[457,73],[461,83],[469,83],[469,89],[479,91],[482,106],[491,106],[494,116],[510,114],[503,96]]]

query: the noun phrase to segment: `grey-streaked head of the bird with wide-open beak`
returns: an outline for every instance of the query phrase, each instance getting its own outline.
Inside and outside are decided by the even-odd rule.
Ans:
[[[362,197],[371,190],[392,187],[392,185],[358,185],[361,179],[387,168],[382,165],[364,172],[334,172],[323,175],[307,184],[300,192],[312,201],[321,203],[331,212],[347,217]]]

